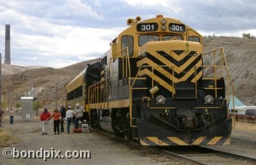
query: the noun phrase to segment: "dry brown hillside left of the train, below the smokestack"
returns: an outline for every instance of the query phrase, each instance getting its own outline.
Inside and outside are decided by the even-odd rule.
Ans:
[[[75,78],[87,64],[97,60],[79,62],[77,64],[60,68],[37,68],[29,69],[15,75],[3,76],[3,97],[7,98],[11,104],[19,101],[22,96],[39,97],[43,106],[55,106],[55,101],[58,104],[65,101],[65,87],[68,82]],[[31,92],[31,86],[34,90]],[[57,85],[57,94],[56,94]],[[57,95],[57,97],[56,97]]]

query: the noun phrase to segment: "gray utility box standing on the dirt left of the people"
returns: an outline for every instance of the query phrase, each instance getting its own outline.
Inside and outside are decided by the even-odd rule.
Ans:
[[[34,97],[20,97],[21,119],[23,121],[31,121],[33,118],[33,101]]]

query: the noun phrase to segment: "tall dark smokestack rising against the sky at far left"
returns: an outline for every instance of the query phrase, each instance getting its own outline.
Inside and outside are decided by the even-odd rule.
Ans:
[[[5,25],[4,64],[11,64],[10,25]]]

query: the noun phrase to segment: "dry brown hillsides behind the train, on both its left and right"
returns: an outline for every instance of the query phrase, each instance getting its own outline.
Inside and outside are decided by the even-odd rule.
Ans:
[[[234,82],[236,96],[245,104],[254,104],[256,100],[256,39],[212,37],[204,39],[204,52],[224,47],[228,68]],[[3,76],[3,96],[13,104],[20,96],[26,96],[33,84],[34,96],[39,97],[44,105],[54,107],[65,102],[65,86],[77,74],[86,68],[88,63],[97,60],[79,62],[66,68],[29,69],[15,75]],[[57,97],[56,97],[57,84]],[[8,91],[8,92],[7,92]],[[28,94],[30,91],[28,92]]]

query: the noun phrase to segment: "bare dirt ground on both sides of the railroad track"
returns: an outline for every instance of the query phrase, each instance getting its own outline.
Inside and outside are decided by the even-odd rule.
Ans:
[[[42,136],[41,122],[35,119],[33,122],[22,122],[15,117],[15,123],[11,126],[8,122],[3,123],[2,130],[9,130],[19,143],[12,144],[9,148],[17,150],[61,150],[63,155],[66,150],[90,150],[91,159],[6,159],[2,151],[6,147],[0,147],[0,164],[160,164],[150,157],[146,157],[138,150],[131,150],[122,143],[109,140],[96,130],[90,133],[61,133],[54,135],[53,122],[49,123],[49,133]],[[66,127],[66,125],[65,125]],[[256,127],[256,126],[255,126]],[[72,124],[71,129],[74,128]],[[66,130],[65,130],[66,131]],[[256,132],[234,129],[232,133],[232,144],[227,146],[216,146],[220,150],[228,150],[238,154],[256,157]],[[179,164],[179,162],[177,162]]]

